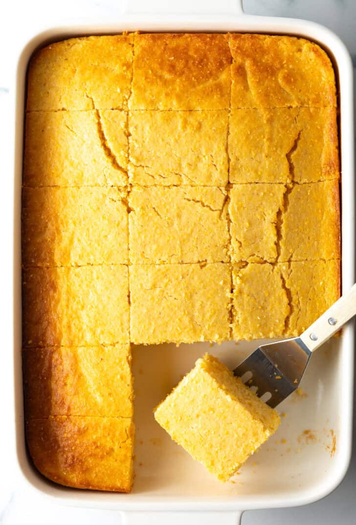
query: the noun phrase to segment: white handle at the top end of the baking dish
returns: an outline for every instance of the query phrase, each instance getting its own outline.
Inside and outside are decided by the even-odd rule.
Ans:
[[[219,14],[243,15],[243,0],[123,0],[122,9],[125,14]]]

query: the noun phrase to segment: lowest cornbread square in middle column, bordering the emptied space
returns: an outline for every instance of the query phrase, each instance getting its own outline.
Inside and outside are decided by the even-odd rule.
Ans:
[[[130,266],[130,339],[139,344],[230,338],[227,264]]]

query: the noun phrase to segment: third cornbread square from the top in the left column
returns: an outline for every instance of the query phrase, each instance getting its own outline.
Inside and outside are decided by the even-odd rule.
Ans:
[[[22,198],[25,266],[128,262],[127,191],[117,187],[25,187]]]

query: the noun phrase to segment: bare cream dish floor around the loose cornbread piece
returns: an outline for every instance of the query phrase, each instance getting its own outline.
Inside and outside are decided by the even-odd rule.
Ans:
[[[312,355],[301,390],[278,406],[278,432],[250,457],[231,481],[223,484],[173,442],[153,417],[153,409],[205,352],[231,369],[261,341],[137,345],[132,347],[135,413],[133,493],[162,497],[216,498],[268,495],[311,487],[338,461],[340,396],[333,377],[338,370],[339,339]],[[283,475],[280,475],[283,472]]]

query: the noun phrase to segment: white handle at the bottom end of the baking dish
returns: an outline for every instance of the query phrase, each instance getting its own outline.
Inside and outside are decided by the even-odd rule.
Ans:
[[[122,525],[239,525],[242,512],[122,512]]]

